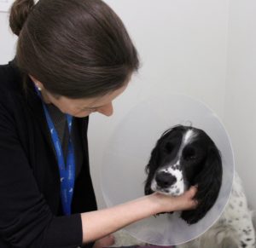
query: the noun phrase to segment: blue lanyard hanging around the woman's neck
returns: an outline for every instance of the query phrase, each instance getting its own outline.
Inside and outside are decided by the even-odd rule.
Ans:
[[[35,87],[36,88],[36,87]],[[38,95],[42,100],[41,93],[36,88]],[[66,216],[71,214],[71,203],[73,199],[73,187],[74,187],[74,178],[75,178],[75,160],[74,160],[74,150],[73,150],[73,142],[71,140],[71,131],[72,131],[72,120],[73,117],[69,114],[66,115],[67,117],[67,124],[68,124],[68,131],[69,131],[69,138],[68,138],[68,146],[67,146],[67,161],[65,164],[65,159],[61,149],[61,142],[57,131],[55,130],[55,125],[52,122],[52,119],[49,116],[49,112],[47,107],[42,100],[43,107],[44,107],[44,114],[47,120],[47,124],[49,127],[49,132],[51,135],[51,139],[54,143],[55,152],[57,155],[60,176],[61,176],[61,203],[63,212]],[[67,166],[66,166],[67,165]]]

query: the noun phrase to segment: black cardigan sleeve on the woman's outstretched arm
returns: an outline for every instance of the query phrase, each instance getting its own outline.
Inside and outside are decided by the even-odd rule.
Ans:
[[[15,113],[7,109],[2,94],[0,99],[1,239],[20,248],[74,248],[81,245],[80,214],[52,214],[20,145]]]

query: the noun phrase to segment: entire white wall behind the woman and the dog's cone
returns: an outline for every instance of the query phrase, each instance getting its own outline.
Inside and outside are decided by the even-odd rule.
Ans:
[[[256,208],[253,173],[247,172],[253,171],[255,164],[252,139],[255,140],[255,131],[251,133],[252,129],[249,130],[253,124],[255,126],[253,0],[232,0],[230,3],[229,0],[106,2],[131,33],[143,66],[129,89],[115,101],[112,118],[98,114],[90,118],[90,163],[99,205],[104,205],[99,183],[99,171],[104,163],[102,154],[116,124],[131,107],[152,92],[170,91],[204,101],[224,120],[247,195]],[[9,32],[7,19],[7,14],[0,13],[1,64],[14,55],[15,36]],[[241,170],[242,166],[248,169]]]

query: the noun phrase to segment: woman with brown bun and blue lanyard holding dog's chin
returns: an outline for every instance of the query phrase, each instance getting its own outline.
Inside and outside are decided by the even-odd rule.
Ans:
[[[131,222],[195,207],[192,188],[96,211],[88,116],[110,116],[139,66],[113,10],[101,0],[16,0],[9,20],[19,38],[15,60],[0,67],[0,247],[111,245],[108,234]]]

